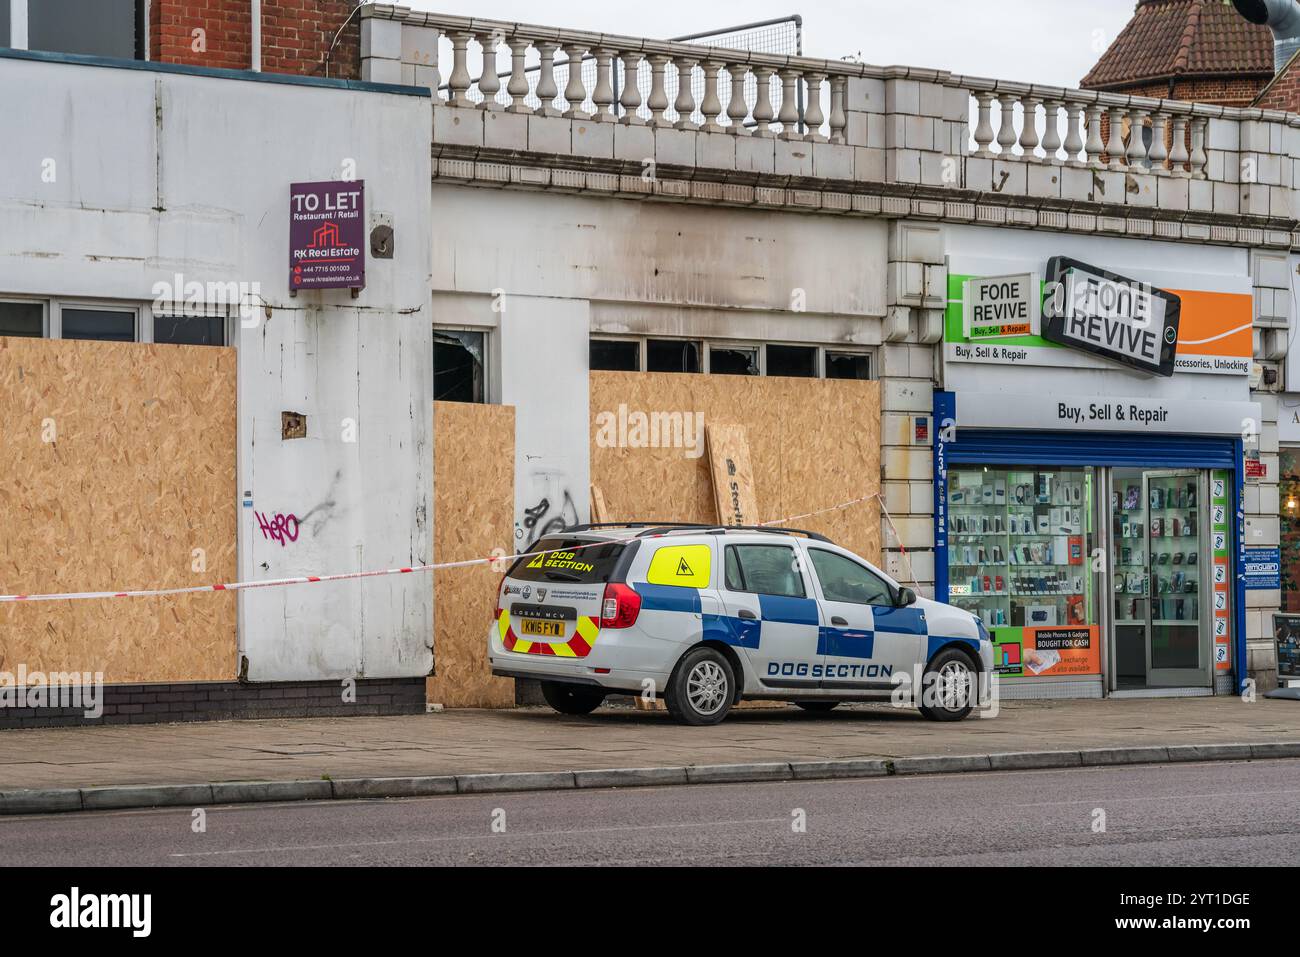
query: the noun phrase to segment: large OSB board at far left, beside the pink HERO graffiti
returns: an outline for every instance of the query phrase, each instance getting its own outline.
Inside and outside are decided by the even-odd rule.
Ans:
[[[0,593],[234,580],[233,348],[0,338]],[[230,593],[0,605],[4,671],[229,680],[235,655]]]

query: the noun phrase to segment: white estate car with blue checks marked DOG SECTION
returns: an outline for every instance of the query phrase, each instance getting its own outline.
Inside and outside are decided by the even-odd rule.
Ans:
[[[741,700],[888,700],[904,675],[922,714],[958,720],[993,668],[976,616],[820,534],[645,523],[580,525],[516,559],[488,654],[494,675],[540,679],[563,714],[653,688],[686,724]]]

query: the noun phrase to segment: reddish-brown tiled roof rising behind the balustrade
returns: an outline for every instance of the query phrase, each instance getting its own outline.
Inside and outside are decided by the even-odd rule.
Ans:
[[[1271,77],[1273,33],[1222,0],[1140,0],[1079,86],[1117,90],[1175,77]]]

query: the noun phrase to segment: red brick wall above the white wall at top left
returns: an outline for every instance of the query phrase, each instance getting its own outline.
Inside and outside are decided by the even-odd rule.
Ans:
[[[355,7],[354,0],[263,0],[261,69],[325,75],[329,44]],[[248,0],[153,0],[150,59],[247,70],[252,43],[250,10]],[[330,77],[359,77],[359,23],[360,17],[354,17],[339,36],[330,57]]]

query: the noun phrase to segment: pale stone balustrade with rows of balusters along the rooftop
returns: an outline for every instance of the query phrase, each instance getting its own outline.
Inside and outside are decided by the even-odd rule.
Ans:
[[[390,4],[361,16],[363,79],[428,86],[436,143],[1275,220],[1300,212],[1296,114]]]

